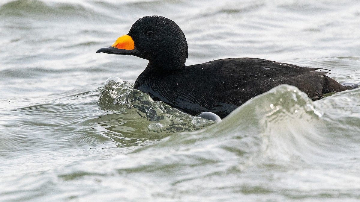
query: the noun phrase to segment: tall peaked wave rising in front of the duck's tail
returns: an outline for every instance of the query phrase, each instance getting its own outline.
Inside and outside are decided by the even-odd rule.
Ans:
[[[359,129],[329,119],[328,108],[339,103],[338,98],[344,94],[356,95],[360,101],[359,89],[313,102],[296,87],[278,86],[249,100],[220,123],[195,132],[176,133],[135,150],[129,154],[129,162],[125,160],[117,168],[138,172],[217,164],[222,171],[242,171],[253,166],[303,168],[333,164],[334,158],[360,154]],[[360,114],[352,119],[360,123]],[[351,135],[342,134],[345,128]]]

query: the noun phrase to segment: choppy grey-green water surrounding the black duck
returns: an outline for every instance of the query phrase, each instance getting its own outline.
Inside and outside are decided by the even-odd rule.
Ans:
[[[95,53],[145,15],[183,29],[188,65],[256,57],[360,83],[357,0],[3,0],[0,201],[360,200],[360,89],[279,86],[193,120],[132,89],[147,61]]]

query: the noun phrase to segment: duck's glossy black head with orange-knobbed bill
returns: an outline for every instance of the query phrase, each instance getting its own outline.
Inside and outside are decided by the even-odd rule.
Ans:
[[[140,18],[131,26],[129,34],[96,52],[135,55],[149,60],[148,67],[170,70],[185,66],[188,43],[174,21],[154,15]]]

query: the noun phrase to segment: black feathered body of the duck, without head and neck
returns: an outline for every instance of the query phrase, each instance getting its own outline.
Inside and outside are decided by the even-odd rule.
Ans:
[[[320,99],[323,84],[330,78],[315,70],[257,58],[221,59],[166,72],[145,70],[135,88],[186,113],[211,111],[223,118],[280,84],[296,86],[313,100]],[[340,84],[335,87],[343,90]]]

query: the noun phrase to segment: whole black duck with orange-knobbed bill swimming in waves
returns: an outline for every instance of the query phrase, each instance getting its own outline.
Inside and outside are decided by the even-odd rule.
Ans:
[[[184,32],[174,21],[157,15],[138,19],[127,35],[96,52],[148,60],[134,89],[190,115],[208,111],[224,118],[281,84],[297,87],[313,101],[347,89],[328,77],[323,71],[327,69],[259,58],[226,58],[186,66],[189,54]]]

